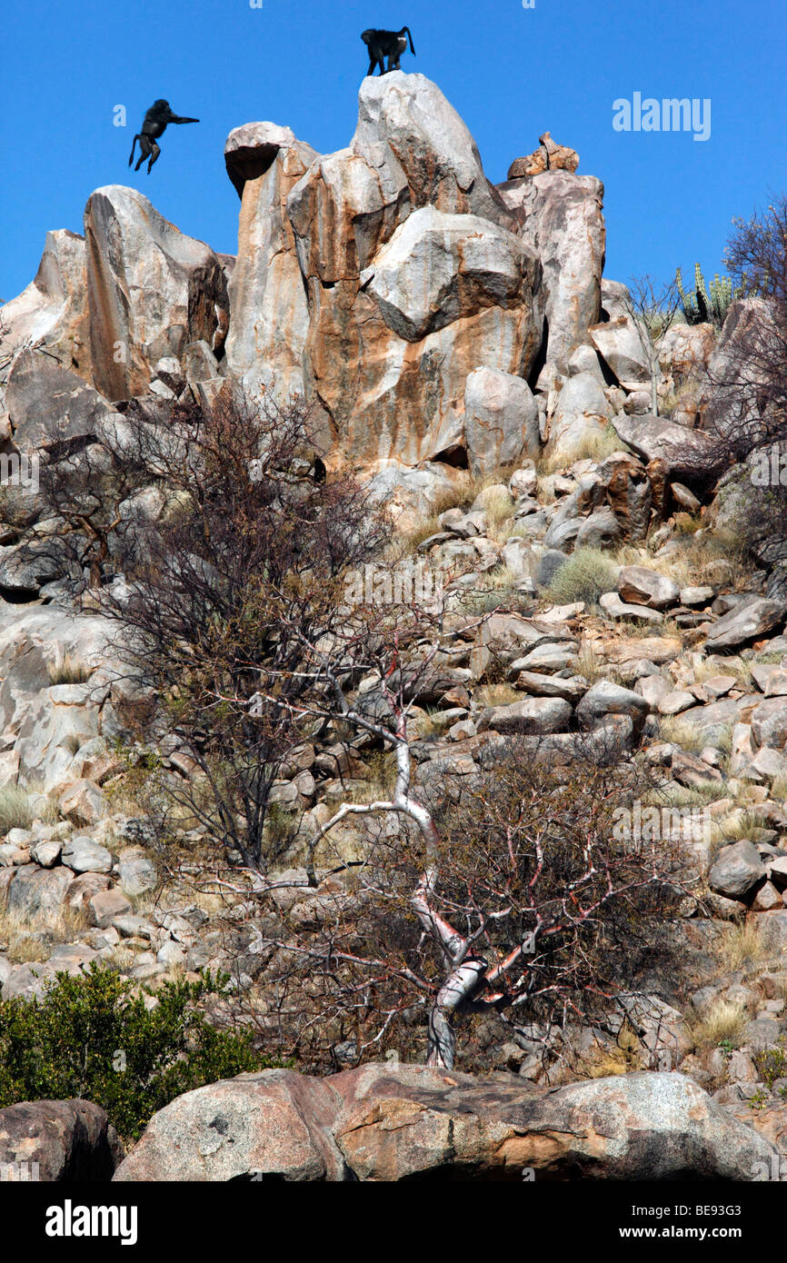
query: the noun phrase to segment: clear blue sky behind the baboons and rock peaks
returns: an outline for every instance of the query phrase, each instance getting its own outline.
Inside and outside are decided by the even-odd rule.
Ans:
[[[321,152],[346,145],[366,27],[413,32],[403,69],[435,80],[488,176],[538,135],[606,187],[606,275],[720,266],[733,215],[787,188],[784,0],[71,0],[3,19],[0,296],[32,280],[47,229],[82,231],[93,188],[129,183],[183,231],[235,253],[227,131],[267,119]],[[711,100],[711,136],[616,133],[619,97]],[[155,97],[202,121],[169,128],[153,174],[126,162]],[[125,105],[128,126],[112,125]]]

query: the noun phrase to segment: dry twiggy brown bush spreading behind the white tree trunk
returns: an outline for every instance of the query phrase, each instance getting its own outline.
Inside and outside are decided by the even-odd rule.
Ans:
[[[466,967],[478,974],[448,1019],[469,1045],[461,1063],[484,1065],[472,1051],[483,1012],[547,1032],[603,1022],[610,998],[653,961],[648,926],[680,894],[670,845],[615,840],[614,810],[639,792],[640,773],[614,762],[550,768],[512,741],[494,768],[430,786],[421,799],[441,839],[430,916],[469,938]],[[313,1070],[333,1063],[337,1045],[351,1061],[385,1047],[422,1060],[447,966],[418,911],[430,866],[421,835],[404,823],[394,836],[378,831],[363,866],[339,880],[341,847],[328,866],[328,909],[270,940],[265,1037],[275,1028],[275,1047]]]

